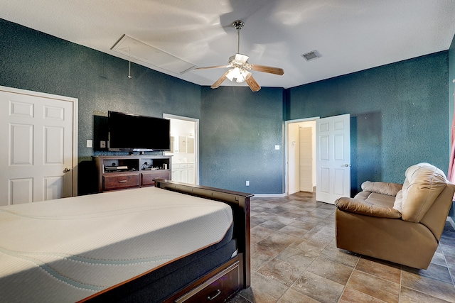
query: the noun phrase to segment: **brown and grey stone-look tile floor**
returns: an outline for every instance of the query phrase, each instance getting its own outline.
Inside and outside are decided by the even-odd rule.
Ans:
[[[335,206],[313,193],[251,202],[251,287],[230,303],[455,302],[455,229],[427,270],[336,248]]]

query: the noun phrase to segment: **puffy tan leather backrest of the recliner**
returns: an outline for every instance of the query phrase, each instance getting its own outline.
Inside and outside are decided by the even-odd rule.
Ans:
[[[403,220],[419,222],[446,187],[446,175],[429,163],[419,163],[409,167],[405,176],[393,209],[401,212]]]

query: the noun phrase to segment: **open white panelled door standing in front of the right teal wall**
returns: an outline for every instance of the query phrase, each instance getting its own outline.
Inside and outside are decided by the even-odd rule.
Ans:
[[[316,200],[350,197],[350,114],[316,120]]]

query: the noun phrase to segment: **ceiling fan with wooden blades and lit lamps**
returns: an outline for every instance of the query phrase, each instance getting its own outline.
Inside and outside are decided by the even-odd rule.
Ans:
[[[257,84],[255,78],[252,77],[251,72],[249,70],[255,70],[257,72],[268,72],[269,74],[274,74],[274,75],[283,75],[284,70],[279,67],[270,67],[270,66],[264,66],[264,65],[255,65],[251,64],[248,62],[248,56],[247,55],[242,55],[240,54],[240,30],[242,27],[245,25],[245,23],[241,20],[234,21],[232,23],[232,26],[237,29],[237,54],[229,57],[229,63],[228,65],[217,65],[217,66],[208,66],[208,67],[197,67],[194,70],[210,70],[213,68],[223,68],[223,67],[229,67],[230,70],[225,72],[223,76],[221,76],[218,80],[215,81],[215,83],[212,84],[211,88],[216,89],[217,87],[220,87],[221,83],[225,79],[230,79],[232,81],[235,79],[235,82],[241,83],[241,82],[247,82],[248,87],[253,92],[257,92],[261,87],[259,87],[259,84]]]

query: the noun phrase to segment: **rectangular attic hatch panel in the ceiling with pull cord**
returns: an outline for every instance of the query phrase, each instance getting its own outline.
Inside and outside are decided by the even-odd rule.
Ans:
[[[128,35],[122,35],[122,38],[112,46],[111,50],[179,75],[196,67],[196,65],[193,65],[190,62],[181,60],[174,55],[154,48],[153,46],[131,38]],[[137,63],[141,64],[140,62]]]

